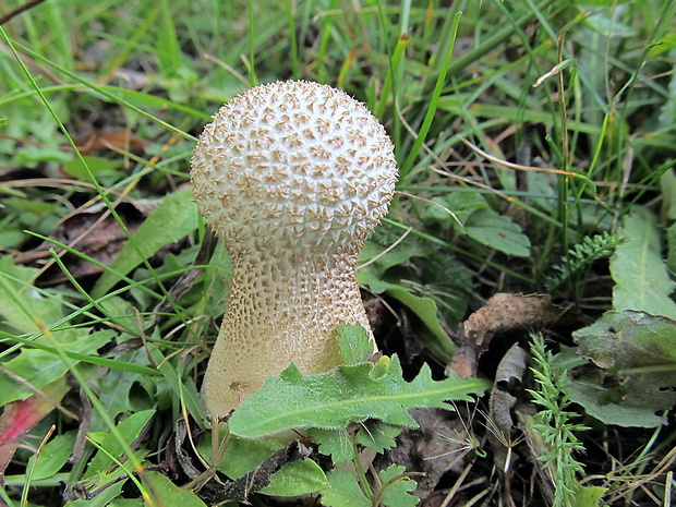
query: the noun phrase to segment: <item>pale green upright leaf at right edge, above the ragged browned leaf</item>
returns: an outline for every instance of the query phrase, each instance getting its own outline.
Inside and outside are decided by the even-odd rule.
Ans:
[[[627,241],[611,256],[615,280],[613,310],[633,310],[676,318],[671,294],[676,283],[669,278],[660,244],[654,215],[635,206],[625,217],[619,234]]]

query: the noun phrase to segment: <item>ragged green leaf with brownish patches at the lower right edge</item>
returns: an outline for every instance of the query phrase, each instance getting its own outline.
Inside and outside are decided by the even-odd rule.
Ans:
[[[578,354],[600,370],[574,372],[571,400],[606,424],[652,427],[676,405],[676,322],[642,312],[608,312],[574,333]]]

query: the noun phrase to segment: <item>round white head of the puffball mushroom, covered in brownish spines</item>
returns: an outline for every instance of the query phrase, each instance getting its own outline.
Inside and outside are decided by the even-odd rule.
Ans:
[[[361,248],[387,213],[393,144],[369,109],[312,82],[256,86],[221,107],[192,158],[193,194],[231,254]]]

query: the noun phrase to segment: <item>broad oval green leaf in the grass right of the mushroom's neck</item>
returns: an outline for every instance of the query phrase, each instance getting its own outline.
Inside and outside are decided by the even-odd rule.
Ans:
[[[467,236],[507,255],[528,257],[531,242],[509,217],[491,209],[479,209],[466,221]]]

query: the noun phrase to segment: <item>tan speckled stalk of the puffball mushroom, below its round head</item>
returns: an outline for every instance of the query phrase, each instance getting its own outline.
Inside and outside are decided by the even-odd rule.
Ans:
[[[233,290],[202,387],[212,412],[237,407],[280,365],[293,362],[310,374],[341,364],[338,341],[316,337],[333,336],[340,322],[371,333],[354,282],[355,263],[354,249],[339,244],[321,255],[287,251],[233,257]]]

